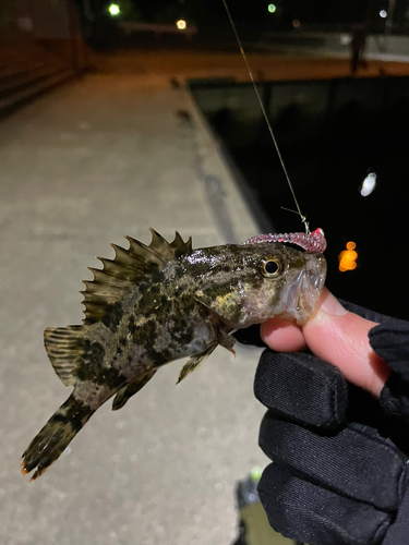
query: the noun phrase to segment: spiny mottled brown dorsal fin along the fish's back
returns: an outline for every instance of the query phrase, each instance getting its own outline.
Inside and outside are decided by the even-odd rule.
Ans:
[[[103,269],[89,267],[94,279],[83,280],[85,290],[81,292],[85,305],[84,324],[104,322],[108,325],[111,317],[119,314],[123,298],[139,281],[158,271],[165,263],[192,252],[191,238],[183,242],[177,232],[175,240],[169,243],[154,229],[151,232],[152,242],[148,246],[125,237],[130,243],[128,250],[111,244],[115,258],[98,257]]]

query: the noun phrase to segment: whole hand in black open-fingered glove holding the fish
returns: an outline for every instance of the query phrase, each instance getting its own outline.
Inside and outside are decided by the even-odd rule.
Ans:
[[[263,506],[275,530],[310,545],[401,545],[408,428],[385,417],[375,397],[394,368],[383,409],[397,413],[409,399],[409,325],[346,304],[348,313],[327,291],[320,306],[303,327],[277,318],[262,326],[275,350],[314,354],[262,355],[254,388],[270,410],[260,445],[274,462],[260,482]]]

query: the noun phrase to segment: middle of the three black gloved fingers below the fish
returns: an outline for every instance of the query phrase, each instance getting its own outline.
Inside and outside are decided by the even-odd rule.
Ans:
[[[341,496],[388,512],[402,500],[408,459],[370,426],[351,423],[323,435],[268,411],[258,444],[274,462]]]

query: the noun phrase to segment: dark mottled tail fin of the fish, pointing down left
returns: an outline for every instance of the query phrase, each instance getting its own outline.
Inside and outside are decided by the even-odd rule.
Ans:
[[[94,412],[71,395],[23,453],[23,475],[37,468],[31,481],[39,477],[61,456]]]

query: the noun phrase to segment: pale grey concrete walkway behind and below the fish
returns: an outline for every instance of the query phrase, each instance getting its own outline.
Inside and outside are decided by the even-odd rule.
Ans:
[[[178,114],[179,111],[179,114]],[[217,205],[217,206],[216,206]],[[257,232],[218,145],[183,89],[145,75],[88,76],[0,124],[0,543],[221,545],[233,486],[266,460],[258,351],[224,349],[175,386],[164,368],[118,413],[103,407],[38,481],[28,441],[68,397],[46,326],[82,319],[81,278],[123,234],[193,235],[195,246]]]

